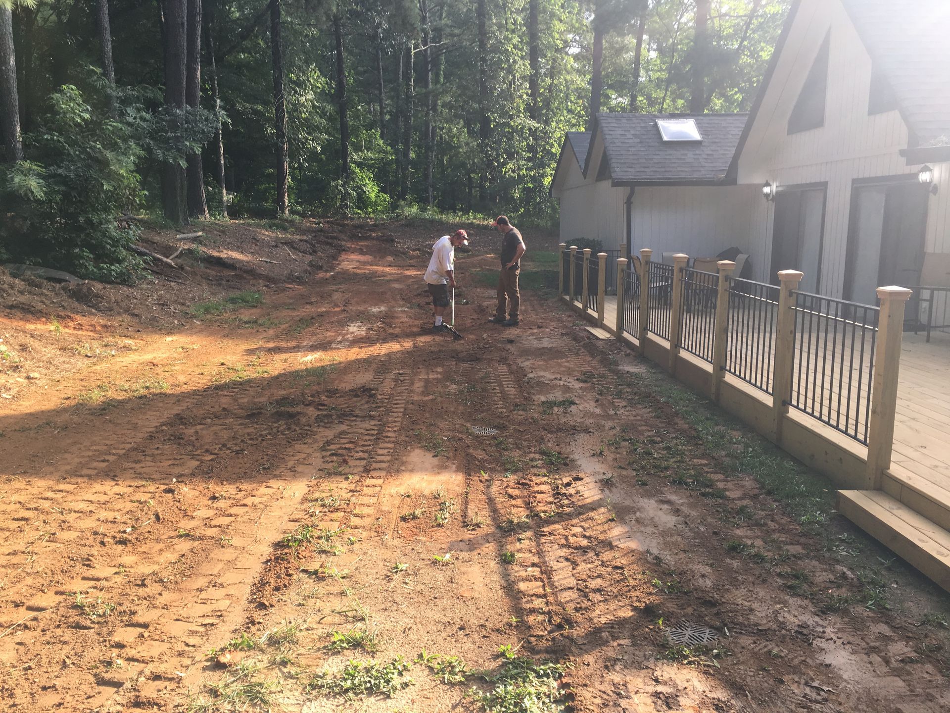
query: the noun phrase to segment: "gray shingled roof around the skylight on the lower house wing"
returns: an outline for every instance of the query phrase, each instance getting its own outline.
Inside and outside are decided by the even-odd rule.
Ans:
[[[729,168],[748,114],[598,114],[615,183],[714,182]],[[693,118],[702,142],[664,143],[657,119]],[[588,156],[584,171],[596,163]]]

